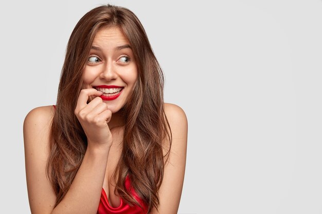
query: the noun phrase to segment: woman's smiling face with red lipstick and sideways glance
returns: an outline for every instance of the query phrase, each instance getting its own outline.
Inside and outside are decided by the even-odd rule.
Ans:
[[[84,68],[82,89],[102,91],[103,102],[115,113],[127,103],[137,76],[133,51],[122,31],[118,27],[100,29]]]

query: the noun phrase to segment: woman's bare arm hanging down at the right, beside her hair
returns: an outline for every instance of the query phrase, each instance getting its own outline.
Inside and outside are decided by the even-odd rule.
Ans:
[[[152,214],[177,213],[185,174],[188,132],[186,114],[173,104],[165,104],[165,113],[172,131],[172,145],[159,189],[160,205],[158,211],[153,208]],[[168,148],[165,150],[167,152]]]

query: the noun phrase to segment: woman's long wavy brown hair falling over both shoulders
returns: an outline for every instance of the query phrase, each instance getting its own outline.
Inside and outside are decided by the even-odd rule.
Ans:
[[[74,114],[82,73],[96,32],[117,26],[128,38],[138,68],[138,81],[122,109],[125,119],[121,157],[114,173],[115,192],[130,205],[140,204],[124,185],[127,176],[149,211],[158,207],[163,180],[163,142],[171,147],[172,134],[164,112],[164,75],[138,18],[130,10],[100,6],[87,12],[70,35],[60,77],[57,108],[51,126],[47,176],[55,190],[56,205],[64,198],[86,151],[86,135]]]

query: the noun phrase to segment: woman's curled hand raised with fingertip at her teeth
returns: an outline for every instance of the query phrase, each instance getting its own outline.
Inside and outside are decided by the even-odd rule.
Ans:
[[[87,148],[111,147],[113,143],[108,126],[112,112],[99,97],[100,95],[102,92],[94,88],[82,89],[77,100],[75,115],[85,131]],[[96,98],[87,104],[91,96],[96,96]]]

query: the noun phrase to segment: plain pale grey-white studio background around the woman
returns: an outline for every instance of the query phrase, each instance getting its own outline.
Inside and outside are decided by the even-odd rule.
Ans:
[[[56,102],[69,35],[113,3],[144,25],[189,122],[178,213],[322,213],[322,3],[0,3],[0,213],[30,213],[23,121]]]

